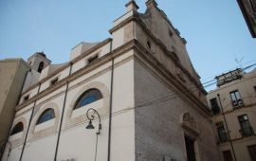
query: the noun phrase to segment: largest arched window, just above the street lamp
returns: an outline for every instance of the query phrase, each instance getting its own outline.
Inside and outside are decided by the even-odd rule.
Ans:
[[[78,109],[82,106],[85,106],[87,104],[90,104],[96,100],[99,100],[103,98],[101,91],[99,91],[98,89],[89,89],[87,91],[85,91],[82,96],[77,100],[77,103],[74,107],[74,109]]]

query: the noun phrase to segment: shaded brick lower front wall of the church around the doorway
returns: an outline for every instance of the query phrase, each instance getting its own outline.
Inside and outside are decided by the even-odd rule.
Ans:
[[[218,160],[209,117],[138,61],[135,89],[137,161],[155,161],[164,156],[186,160],[185,134],[195,140],[197,160]],[[181,118],[185,113],[194,118],[196,133],[183,128]]]

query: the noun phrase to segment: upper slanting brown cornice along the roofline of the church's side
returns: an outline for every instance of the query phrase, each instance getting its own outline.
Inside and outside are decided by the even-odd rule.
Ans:
[[[54,71],[53,73],[51,73],[50,75],[48,75],[45,79],[43,80],[39,80],[38,82],[36,82],[35,84],[31,85],[30,87],[27,88],[26,91],[24,91],[21,95],[26,94],[28,91],[32,90],[33,88],[37,87],[40,83],[44,83],[46,80],[49,80],[52,78],[52,76],[64,71],[64,69],[66,69],[67,67],[70,66],[70,64],[72,63],[77,63],[79,60],[81,60],[82,58],[86,57],[87,55],[91,54],[92,52],[94,52],[95,50],[99,49],[101,46],[106,45],[107,43],[109,43],[110,41],[112,41],[112,39],[108,38],[106,40],[104,40],[103,42],[101,42],[99,45],[96,45],[92,48],[90,48],[89,50],[85,51],[84,53],[82,53],[80,56],[78,56],[76,59],[72,60],[71,62],[65,64],[64,66],[60,67],[59,69],[57,69],[56,71]]]

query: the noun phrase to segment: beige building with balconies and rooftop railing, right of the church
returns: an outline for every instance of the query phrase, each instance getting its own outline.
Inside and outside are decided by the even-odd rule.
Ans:
[[[216,77],[207,98],[223,161],[256,160],[256,69],[236,69]]]

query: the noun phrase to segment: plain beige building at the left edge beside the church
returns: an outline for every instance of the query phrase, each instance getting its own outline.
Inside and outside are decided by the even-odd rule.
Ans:
[[[8,143],[9,130],[29,70],[22,59],[0,61],[0,158]]]

